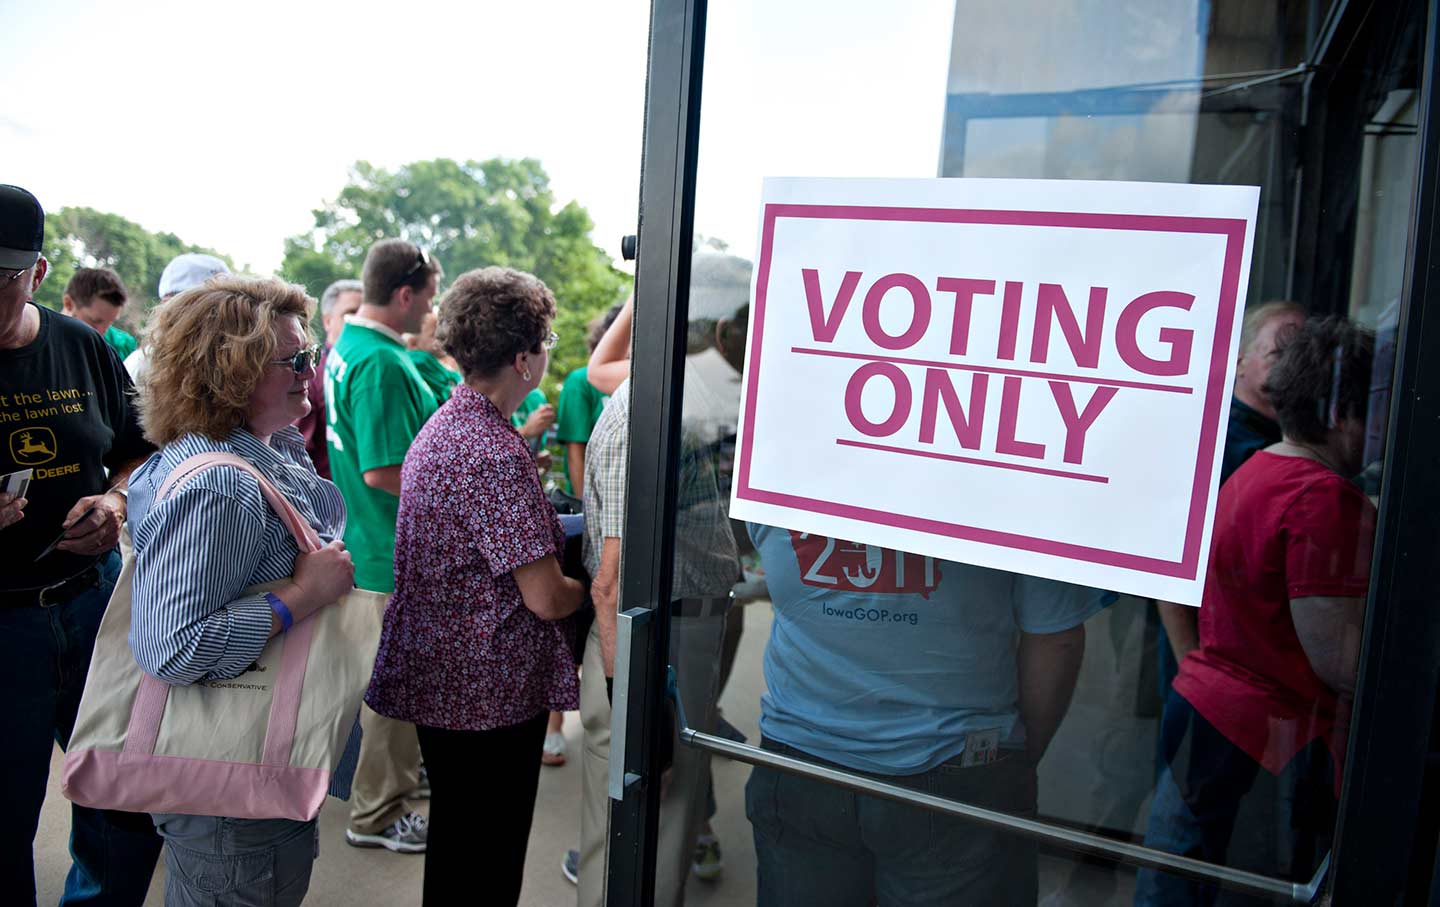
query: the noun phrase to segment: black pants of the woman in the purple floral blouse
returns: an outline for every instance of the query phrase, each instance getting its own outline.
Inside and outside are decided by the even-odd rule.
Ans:
[[[477,885],[487,904],[520,901],[547,718],[484,731],[415,726],[431,779],[425,904]]]

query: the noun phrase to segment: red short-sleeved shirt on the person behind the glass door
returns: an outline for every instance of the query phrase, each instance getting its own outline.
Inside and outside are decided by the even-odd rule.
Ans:
[[[1220,488],[1200,648],[1175,690],[1272,775],[1315,739],[1338,772],[1346,716],[1305,656],[1290,599],[1364,597],[1374,536],[1369,498],[1312,459],[1261,451]]]

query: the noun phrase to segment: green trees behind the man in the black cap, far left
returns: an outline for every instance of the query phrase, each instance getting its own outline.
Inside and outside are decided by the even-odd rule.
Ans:
[[[92,207],[62,207],[45,216],[45,258],[50,271],[35,301],[59,311],[65,285],[76,269],[109,268],[130,291],[121,325],[134,333],[158,301],[160,272],[183,252],[215,255],[233,268],[229,256],[181,242],[174,233],[151,233],[120,215]]]

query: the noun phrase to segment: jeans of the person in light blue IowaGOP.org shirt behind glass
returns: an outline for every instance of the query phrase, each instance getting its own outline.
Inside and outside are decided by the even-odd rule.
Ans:
[[[766,750],[831,767],[801,750]],[[1032,818],[1035,767],[1018,750],[986,766],[960,760],[877,780]],[[986,907],[1035,904],[1032,841],[976,822],[756,766],[744,788],[759,907]]]

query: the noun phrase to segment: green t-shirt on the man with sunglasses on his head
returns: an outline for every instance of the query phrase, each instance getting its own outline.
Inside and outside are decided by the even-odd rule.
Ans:
[[[409,351],[374,328],[346,324],[325,356],[330,475],[346,498],[346,547],[361,589],[395,590],[400,510],[400,498],[366,485],[364,474],[405,462],[410,442],[439,405]]]

